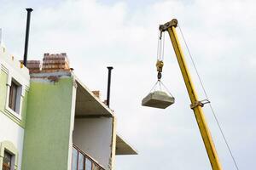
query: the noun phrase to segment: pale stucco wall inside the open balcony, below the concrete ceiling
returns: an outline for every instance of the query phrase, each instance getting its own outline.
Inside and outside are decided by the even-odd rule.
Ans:
[[[73,143],[104,168],[111,169],[113,118],[75,119]]]

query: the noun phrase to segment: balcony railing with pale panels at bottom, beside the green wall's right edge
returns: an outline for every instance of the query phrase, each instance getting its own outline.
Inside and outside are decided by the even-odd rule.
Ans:
[[[72,151],[72,170],[105,170],[92,157],[80,150],[78,146],[73,144]]]

